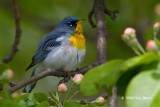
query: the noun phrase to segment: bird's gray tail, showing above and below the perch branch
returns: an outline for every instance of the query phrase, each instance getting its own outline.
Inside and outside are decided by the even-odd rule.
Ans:
[[[41,72],[41,70],[36,67],[33,70],[31,77],[37,75],[40,72]],[[33,90],[33,88],[36,86],[36,84],[37,84],[37,82],[33,82],[31,84],[28,84],[27,86],[24,87],[22,93],[30,93]]]

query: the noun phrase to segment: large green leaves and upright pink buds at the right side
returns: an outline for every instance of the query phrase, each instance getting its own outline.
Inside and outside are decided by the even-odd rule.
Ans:
[[[132,28],[127,29],[134,31]],[[112,94],[110,89],[116,84],[118,93],[122,96],[121,99],[126,100],[128,107],[157,107],[160,92],[160,45],[157,37],[160,35],[154,33],[154,40],[147,43],[146,51],[148,52],[146,52],[135,36],[125,39],[131,34],[133,32],[123,35],[122,38],[139,56],[127,60],[112,60],[91,69],[84,76],[81,92],[92,96],[107,85],[109,88],[106,91]],[[133,44],[132,40],[135,39],[136,42]]]

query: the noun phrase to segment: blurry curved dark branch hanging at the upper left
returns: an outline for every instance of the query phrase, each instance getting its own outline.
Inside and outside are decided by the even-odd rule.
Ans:
[[[21,25],[20,25],[20,16],[17,6],[17,1],[13,0],[13,13],[14,13],[14,20],[15,20],[15,27],[16,27],[16,34],[15,39],[11,47],[11,51],[8,56],[3,58],[3,63],[9,63],[13,57],[15,56],[16,52],[18,51],[17,45],[19,44],[20,37],[21,37]]]

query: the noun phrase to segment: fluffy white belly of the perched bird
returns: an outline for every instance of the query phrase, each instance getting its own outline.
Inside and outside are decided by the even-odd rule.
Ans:
[[[46,68],[71,71],[83,60],[84,55],[85,49],[78,50],[71,46],[60,46],[48,54],[43,65]]]

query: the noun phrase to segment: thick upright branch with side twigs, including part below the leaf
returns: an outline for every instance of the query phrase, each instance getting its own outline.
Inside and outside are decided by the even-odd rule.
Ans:
[[[88,15],[88,20],[90,24],[94,25],[92,21],[92,15],[94,14],[96,19],[97,27],[97,61],[100,64],[103,64],[107,61],[106,45],[107,45],[107,31],[106,31],[106,20],[105,14],[108,14],[112,20],[116,19],[116,13],[119,13],[119,10],[110,11],[106,8],[104,0],[94,0],[94,5],[92,10]],[[117,90],[116,87],[112,89],[112,97],[109,99],[109,107],[117,107]]]

